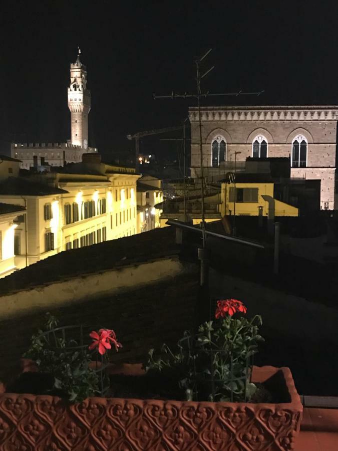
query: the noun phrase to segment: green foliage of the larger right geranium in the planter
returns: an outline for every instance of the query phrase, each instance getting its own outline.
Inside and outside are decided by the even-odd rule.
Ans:
[[[258,315],[208,321],[195,335],[185,332],[176,353],[165,344],[159,352],[151,349],[146,370],[169,373],[188,400],[197,392],[199,400],[244,401],[255,392],[248,362],[263,341],[261,324]]]

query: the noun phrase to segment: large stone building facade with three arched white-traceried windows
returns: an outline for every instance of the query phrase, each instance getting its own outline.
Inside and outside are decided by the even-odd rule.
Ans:
[[[199,118],[189,108],[191,176],[200,176]],[[203,164],[210,181],[247,157],[289,157],[291,177],[320,179],[320,208],[334,208],[338,106],[203,107]]]

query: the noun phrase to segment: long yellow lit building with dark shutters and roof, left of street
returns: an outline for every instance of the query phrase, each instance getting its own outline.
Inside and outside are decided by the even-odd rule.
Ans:
[[[137,233],[140,175],[132,168],[101,163],[97,154],[94,160],[88,156],[88,161],[72,165],[71,173],[10,177],[0,183],[0,202],[27,208],[27,221],[15,229],[15,268]]]

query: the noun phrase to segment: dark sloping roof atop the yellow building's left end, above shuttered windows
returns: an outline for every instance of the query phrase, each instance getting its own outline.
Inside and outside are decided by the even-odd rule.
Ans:
[[[65,189],[55,188],[44,183],[31,182],[21,177],[9,177],[0,183],[0,194],[19,196],[46,196],[67,193]]]

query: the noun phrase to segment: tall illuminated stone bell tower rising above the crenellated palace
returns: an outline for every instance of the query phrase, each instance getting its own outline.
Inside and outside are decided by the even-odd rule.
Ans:
[[[80,62],[81,50],[78,47],[78,57],[71,63],[71,83],[68,88],[68,107],[71,110],[72,144],[88,147],[88,114],[91,107],[91,94],[87,89],[86,66]]]

